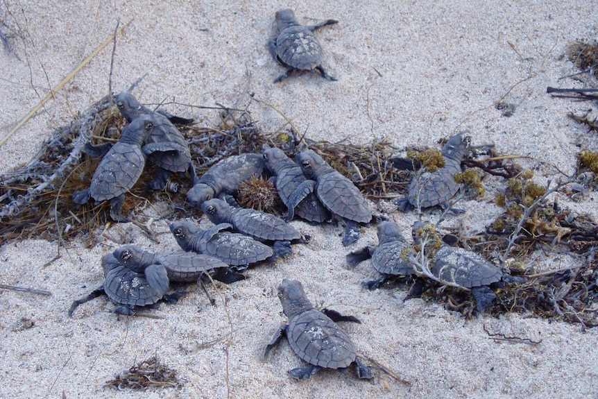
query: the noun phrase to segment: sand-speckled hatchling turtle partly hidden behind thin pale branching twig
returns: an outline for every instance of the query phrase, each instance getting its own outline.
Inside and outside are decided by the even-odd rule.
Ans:
[[[418,242],[415,232],[423,226],[420,221],[413,224],[414,241]],[[503,282],[522,281],[521,278],[505,273],[482,255],[464,248],[443,244],[432,254],[429,265],[432,274],[441,283],[450,282],[470,289],[479,313],[484,312],[484,309],[496,298],[491,288],[502,287]]]

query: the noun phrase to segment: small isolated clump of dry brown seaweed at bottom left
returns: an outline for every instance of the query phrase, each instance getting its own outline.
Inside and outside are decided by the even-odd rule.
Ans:
[[[160,360],[153,356],[129,368],[126,373],[117,375],[114,380],[107,381],[106,387],[116,388],[119,391],[150,387],[179,389],[182,383],[176,377],[176,370],[160,363]]]

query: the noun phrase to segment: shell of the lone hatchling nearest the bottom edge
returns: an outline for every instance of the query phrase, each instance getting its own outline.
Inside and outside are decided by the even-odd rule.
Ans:
[[[291,319],[287,339],[296,355],[320,367],[345,368],[357,356],[348,334],[316,309]]]

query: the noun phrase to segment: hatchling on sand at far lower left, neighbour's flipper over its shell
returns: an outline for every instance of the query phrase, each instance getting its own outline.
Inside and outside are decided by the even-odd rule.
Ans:
[[[73,315],[76,307],[100,295],[106,295],[117,305],[113,313],[133,316],[136,306],[155,307],[162,298],[175,302],[180,294],[166,295],[169,287],[166,269],[160,265],[150,265],[137,271],[128,268],[112,253],[102,258],[104,282],[102,287],[91,294],[75,300],[69,308],[69,316]]]

